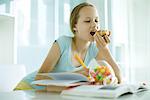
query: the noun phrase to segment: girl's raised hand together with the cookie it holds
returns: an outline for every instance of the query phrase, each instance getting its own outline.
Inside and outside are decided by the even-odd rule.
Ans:
[[[98,48],[103,48],[105,47],[108,43],[110,43],[110,31],[108,30],[100,30],[97,31],[96,34],[94,34],[94,39],[96,41],[97,47]]]

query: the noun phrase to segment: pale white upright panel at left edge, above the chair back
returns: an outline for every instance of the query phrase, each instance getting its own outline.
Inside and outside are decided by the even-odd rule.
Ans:
[[[14,17],[0,14],[0,63],[14,63]]]

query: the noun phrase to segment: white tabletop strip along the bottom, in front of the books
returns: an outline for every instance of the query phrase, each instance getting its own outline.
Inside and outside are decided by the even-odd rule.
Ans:
[[[115,100],[149,100],[149,99],[150,99],[150,90],[139,92],[136,94],[127,94]],[[107,99],[77,97],[77,96],[61,96],[59,93],[50,93],[50,92],[13,91],[13,92],[0,92],[0,100],[107,100]]]

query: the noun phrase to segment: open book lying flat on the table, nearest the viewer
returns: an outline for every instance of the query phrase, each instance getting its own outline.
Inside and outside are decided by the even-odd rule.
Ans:
[[[62,96],[86,96],[86,97],[102,97],[117,98],[127,93],[136,93],[148,90],[146,85],[82,85],[70,89],[63,90]]]

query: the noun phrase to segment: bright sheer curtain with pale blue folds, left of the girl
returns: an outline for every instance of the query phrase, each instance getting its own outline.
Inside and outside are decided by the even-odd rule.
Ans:
[[[15,0],[16,63],[27,73],[37,70],[61,35],[73,34],[69,27],[72,8],[86,0]]]

